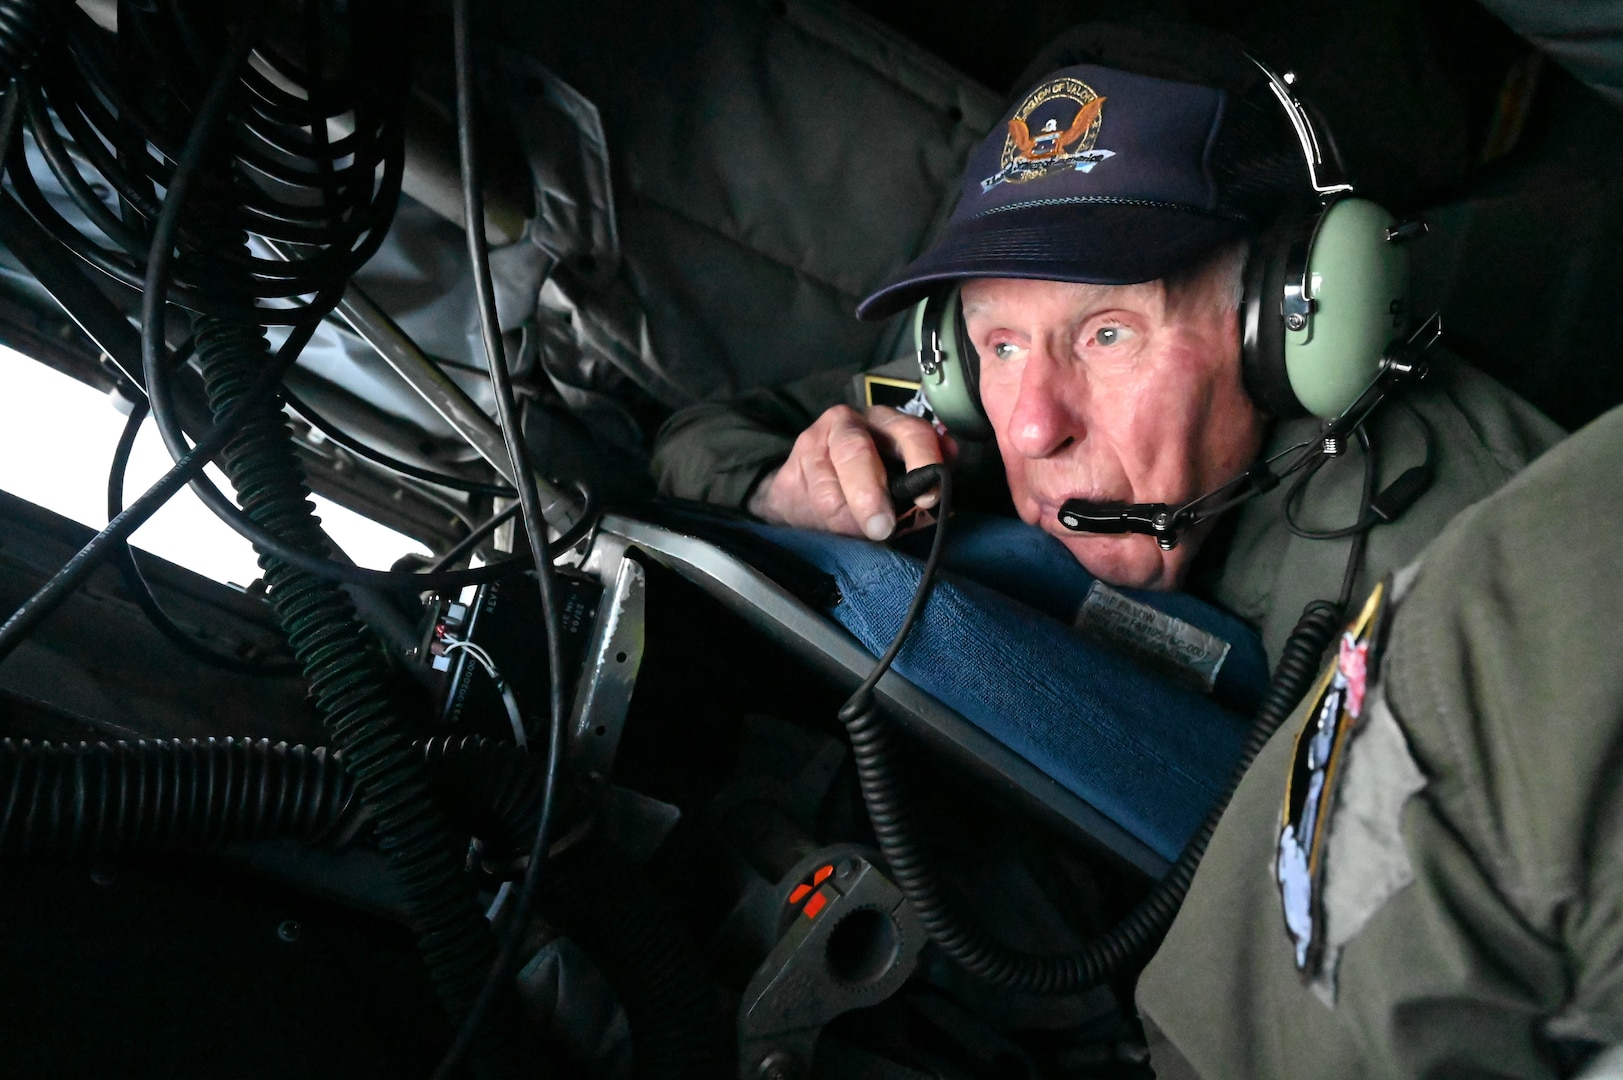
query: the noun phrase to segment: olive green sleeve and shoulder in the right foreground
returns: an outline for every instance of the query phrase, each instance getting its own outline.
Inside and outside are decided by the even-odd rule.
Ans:
[[[1620,464],[1613,411],[1461,515],[1397,606],[1415,880],[1349,942],[1334,1007],[1272,880],[1302,716],[1263,750],[1139,983],[1157,1075],[1558,1077],[1623,1043]]]

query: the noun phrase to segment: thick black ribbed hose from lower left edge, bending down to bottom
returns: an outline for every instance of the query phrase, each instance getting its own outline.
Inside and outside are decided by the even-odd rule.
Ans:
[[[441,736],[412,747],[485,856],[524,851],[542,797],[510,742]],[[54,745],[0,739],[0,858],[97,859],[291,838],[342,848],[370,835],[344,755],[268,739]],[[641,1080],[729,1072],[732,1039],[704,960],[654,888],[591,840],[549,862],[545,919],[592,958],[625,1009]]]

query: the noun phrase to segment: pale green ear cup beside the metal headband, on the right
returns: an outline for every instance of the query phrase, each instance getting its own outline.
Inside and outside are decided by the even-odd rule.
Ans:
[[[1375,203],[1342,198],[1324,211],[1308,244],[1307,296],[1300,304],[1285,299],[1285,372],[1315,416],[1339,416],[1350,406],[1404,331],[1409,257],[1386,239],[1394,224]],[[1295,266],[1292,279],[1302,279]]]

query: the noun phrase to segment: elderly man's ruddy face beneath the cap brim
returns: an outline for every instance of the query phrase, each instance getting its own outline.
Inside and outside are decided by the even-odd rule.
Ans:
[[[1263,419],[1240,383],[1238,313],[1206,274],[1089,286],[982,278],[962,287],[980,398],[1019,516],[1112,585],[1177,588],[1201,534],[1071,533],[1066,499],[1182,503],[1256,456]]]

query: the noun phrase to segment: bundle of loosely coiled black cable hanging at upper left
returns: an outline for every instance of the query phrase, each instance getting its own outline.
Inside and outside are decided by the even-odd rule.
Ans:
[[[117,36],[120,45],[144,47],[143,63],[131,65],[117,62],[110,36],[86,13],[63,6],[67,32],[47,44],[50,62],[36,65],[23,84],[29,132],[63,190],[114,245],[81,235],[50,208],[28,172],[21,143],[10,148],[8,172],[42,227],[112,279],[141,287],[148,235],[162,206],[154,185],[170,188],[196,97],[234,32],[232,18],[247,10],[170,3],[143,11],[133,5]],[[253,62],[239,71],[240,93],[234,94],[227,222],[292,245],[295,255],[217,255],[243,271],[232,291],[182,255],[170,299],[216,315],[252,310],[261,325],[302,323],[326,312],[286,300],[347,279],[383,242],[393,219],[404,172],[399,106],[409,78],[399,58],[409,49],[399,36],[399,13],[377,3],[349,3],[326,18],[294,19],[297,26],[268,16],[261,23]],[[287,37],[299,37],[312,62],[299,60]],[[329,70],[338,58],[344,63]],[[300,93],[279,83],[297,84]],[[329,138],[333,123],[349,133]],[[118,197],[128,219],[112,214],[97,185]],[[190,250],[201,248],[185,229],[180,239]]]

